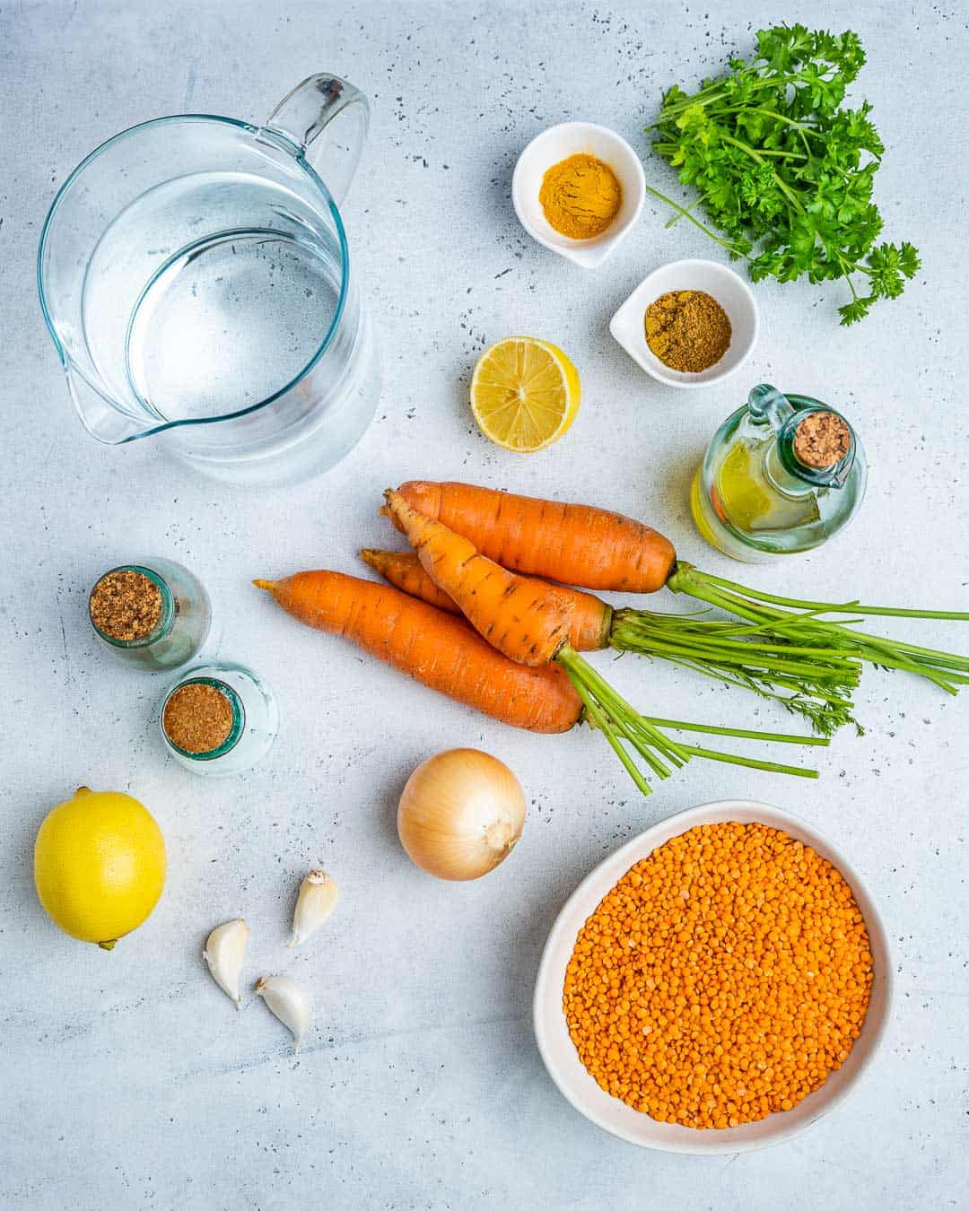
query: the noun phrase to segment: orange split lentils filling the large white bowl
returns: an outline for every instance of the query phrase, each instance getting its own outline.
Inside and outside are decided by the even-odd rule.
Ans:
[[[848,1058],[872,985],[852,889],[758,823],[701,825],[637,862],[586,920],[563,1009],[579,1057],[660,1123],[790,1110]]]

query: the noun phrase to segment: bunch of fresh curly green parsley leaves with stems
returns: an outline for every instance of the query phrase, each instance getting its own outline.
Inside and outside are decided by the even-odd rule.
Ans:
[[[866,316],[876,299],[898,298],[921,264],[911,243],[875,245],[882,216],[871,194],[884,145],[867,102],[842,108],[864,63],[852,30],[762,29],[752,59],[730,59],[729,74],[692,96],[673,85],[648,128],[722,235],[693,206],[647,186],[678,212],[670,223],[687,218],[745,257],[755,281],[844,277],[852,302],[839,308],[843,325]],[[858,277],[866,285],[859,288]]]

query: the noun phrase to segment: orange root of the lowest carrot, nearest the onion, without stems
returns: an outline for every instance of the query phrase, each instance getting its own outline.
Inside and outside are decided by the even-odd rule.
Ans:
[[[583,705],[560,668],[512,664],[463,619],[388,585],[339,572],[298,572],[253,584],[300,622],[352,639],[378,660],[501,723],[557,733],[579,722]]]

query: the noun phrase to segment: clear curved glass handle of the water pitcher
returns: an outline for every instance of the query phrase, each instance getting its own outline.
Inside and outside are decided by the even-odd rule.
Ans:
[[[371,107],[363,93],[323,73],[308,76],[283,97],[263,128],[305,154],[339,205],[360,163],[369,124]]]

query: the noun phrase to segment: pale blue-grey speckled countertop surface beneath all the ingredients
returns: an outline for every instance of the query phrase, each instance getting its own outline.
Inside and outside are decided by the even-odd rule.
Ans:
[[[816,784],[696,762],[641,800],[594,735],[491,724],[298,630],[248,584],[306,566],[355,569],[356,547],[384,536],[378,492],[429,474],[601,498],[726,572],[692,530],[687,484],[716,424],[768,380],[843,406],[871,478],[848,536],[753,569],[751,582],[965,602],[959,5],[849,10],[870,61],[855,94],[875,103],[889,149],[877,182],[887,234],[913,240],[924,260],[906,295],[858,328],[837,327],[837,286],[762,285],[746,371],[723,388],[663,390],[612,342],[608,317],[648,269],[712,246],[686,224],[664,231],[666,214],[647,205],[608,268],[585,274],[515,219],[511,168],[544,126],[606,122],[644,151],[665,86],[746,52],[751,31],[779,16],[842,28],[845,10],[805,0],[780,13],[752,0],[736,11],[727,0],[0,0],[4,1207],[965,1205],[969,701],[871,673],[859,702],[867,735],[839,736]],[[182,110],[258,121],[321,69],[373,101],[345,214],[384,357],[377,421],[328,477],[260,497],[214,488],[150,443],[96,446],[70,412],[34,293],[57,184],[121,127]],[[670,184],[658,162],[648,173]],[[487,446],[465,403],[477,351],[516,331],[562,344],[585,388],[569,436],[531,460]],[[92,642],[93,578],[144,551],[203,578],[220,653],[275,687],[280,741],[246,777],[203,784],[166,759],[151,724],[164,681],[119,668]],[[969,649],[956,624],[919,633]],[[614,673],[670,716],[757,713],[686,672],[626,661]],[[394,831],[409,769],[452,745],[503,757],[529,799],[514,859],[466,886],[418,873]],[[131,788],[168,843],[157,911],[111,954],[62,936],[31,889],[34,831],[80,782]],[[709,1160],[637,1152],[580,1118],[541,1067],[529,1022],[540,947],[600,857],[670,813],[729,796],[802,814],[864,873],[894,945],[894,1021],[855,1097],[796,1141]],[[326,935],[291,957],[279,943],[317,861],[344,899]],[[237,914],[253,931],[248,975],[285,959],[311,985],[299,1062],[262,1005],[236,1017],[201,966],[207,929]]]

